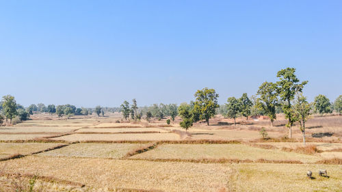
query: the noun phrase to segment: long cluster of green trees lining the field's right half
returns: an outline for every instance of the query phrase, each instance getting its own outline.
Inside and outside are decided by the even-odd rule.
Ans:
[[[300,124],[305,143],[305,122],[312,113],[342,112],[342,95],[333,103],[324,95],[315,97],[315,101],[309,103],[302,94],[304,85],[308,81],[302,81],[295,75],[295,68],[285,68],[278,71],[275,83],[264,82],[260,85],[257,96],[248,97],[246,93],[241,98],[229,97],[225,105],[217,104],[218,94],[215,90],[205,88],[198,90],[194,96],[196,101],[181,104],[179,115],[182,118],[180,125],[187,130],[198,120],[205,120],[209,125],[209,119],[215,113],[221,113],[228,118],[250,115],[267,115],[272,122],[276,120],[277,113],[284,113],[289,128],[289,138],[292,137],[292,126],[295,122]]]

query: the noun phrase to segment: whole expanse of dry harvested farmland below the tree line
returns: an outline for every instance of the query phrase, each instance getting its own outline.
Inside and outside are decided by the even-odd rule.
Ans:
[[[306,146],[298,125],[286,139],[281,115],[273,127],[218,115],[187,132],[179,118],[170,126],[118,113],[31,118],[0,126],[0,191],[29,189],[32,179],[36,191],[342,191],[342,116],[308,120]]]

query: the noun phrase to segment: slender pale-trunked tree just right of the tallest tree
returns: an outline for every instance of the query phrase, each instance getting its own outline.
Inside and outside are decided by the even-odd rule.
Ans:
[[[306,97],[303,94],[298,94],[293,109],[296,115],[295,119],[300,123],[300,131],[302,131],[303,143],[305,145],[305,122],[311,115],[311,105],[306,101]]]

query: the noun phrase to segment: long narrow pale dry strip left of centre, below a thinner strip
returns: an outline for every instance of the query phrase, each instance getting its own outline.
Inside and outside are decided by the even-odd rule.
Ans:
[[[132,133],[132,134],[73,134],[55,137],[54,140],[66,141],[173,141],[179,140],[174,133]]]

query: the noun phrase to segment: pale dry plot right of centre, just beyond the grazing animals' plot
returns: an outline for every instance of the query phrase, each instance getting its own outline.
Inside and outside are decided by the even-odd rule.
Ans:
[[[162,144],[154,150],[131,156],[131,159],[265,159],[303,163],[321,160],[319,156],[252,148],[242,144]]]

